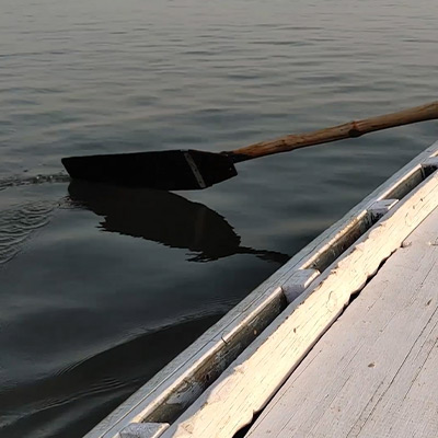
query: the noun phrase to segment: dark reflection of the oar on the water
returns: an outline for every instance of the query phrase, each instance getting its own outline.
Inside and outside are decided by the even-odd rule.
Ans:
[[[105,231],[187,249],[196,253],[192,261],[233,254],[254,254],[281,264],[289,260],[286,254],[241,246],[240,237],[222,216],[173,193],[72,181],[69,194],[74,204],[104,217]]]

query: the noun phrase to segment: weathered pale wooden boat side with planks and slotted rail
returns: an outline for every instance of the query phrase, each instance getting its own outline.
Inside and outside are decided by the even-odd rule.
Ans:
[[[437,169],[438,141],[87,438],[438,436]]]

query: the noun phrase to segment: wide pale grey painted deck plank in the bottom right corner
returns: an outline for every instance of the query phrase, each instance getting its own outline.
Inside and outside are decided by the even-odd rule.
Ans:
[[[438,210],[315,345],[247,438],[438,436]]]

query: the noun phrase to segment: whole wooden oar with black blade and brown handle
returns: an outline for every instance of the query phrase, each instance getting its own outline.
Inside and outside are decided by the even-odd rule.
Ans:
[[[70,176],[78,180],[166,191],[197,189],[235,176],[234,164],[242,161],[436,118],[438,101],[313,132],[262,141],[233,151],[212,153],[189,149],[69,157],[62,159],[62,164]]]

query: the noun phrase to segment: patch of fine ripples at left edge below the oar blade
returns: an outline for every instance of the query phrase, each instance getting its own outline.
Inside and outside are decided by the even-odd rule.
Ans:
[[[19,254],[33,232],[49,222],[54,208],[54,203],[39,200],[0,212],[0,267]]]

